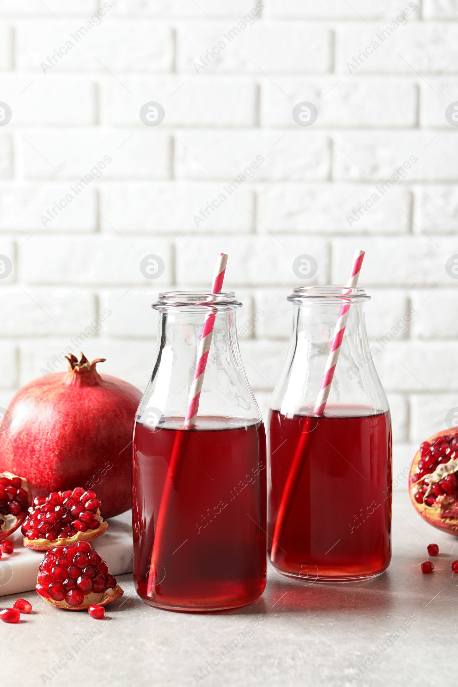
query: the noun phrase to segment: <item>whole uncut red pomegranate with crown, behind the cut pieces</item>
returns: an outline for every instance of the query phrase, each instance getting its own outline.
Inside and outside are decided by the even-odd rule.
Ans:
[[[0,472],[23,475],[32,497],[97,485],[104,517],[131,505],[130,453],[141,392],[81,354],[68,372],[22,387],[0,425]],[[8,426],[9,424],[9,426]]]

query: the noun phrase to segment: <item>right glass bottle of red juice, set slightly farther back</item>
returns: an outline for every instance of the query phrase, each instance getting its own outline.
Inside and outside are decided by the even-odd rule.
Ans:
[[[365,328],[369,296],[359,287],[298,287],[288,300],[293,334],[269,413],[268,552],[286,576],[371,578],[391,560],[392,463],[389,406]],[[317,416],[334,327],[349,302],[330,394]],[[301,471],[285,490],[295,456]]]

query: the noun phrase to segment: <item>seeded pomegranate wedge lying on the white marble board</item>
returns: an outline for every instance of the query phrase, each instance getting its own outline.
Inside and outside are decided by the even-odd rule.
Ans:
[[[56,545],[91,541],[103,534],[108,523],[100,515],[95,492],[77,486],[37,496],[23,522],[24,546],[43,551]]]

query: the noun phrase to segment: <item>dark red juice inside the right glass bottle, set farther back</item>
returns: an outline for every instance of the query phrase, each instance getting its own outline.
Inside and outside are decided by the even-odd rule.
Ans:
[[[288,418],[271,411],[268,541],[295,448],[308,430],[310,451],[275,565],[286,575],[317,581],[380,574],[391,560],[389,412],[339,407],[327,408],[323,418]]]

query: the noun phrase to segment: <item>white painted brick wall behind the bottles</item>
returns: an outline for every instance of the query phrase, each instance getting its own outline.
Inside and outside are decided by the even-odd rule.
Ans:
[[[306,283],[341,283],[363,247],[369,337],[418,311],[376,358],[396,475],[458,407],[458,281],[445,270],[458,254],[458,129],[445,117],[458,100],[458,2],[262,4],[0,0],[0,101],[12,109],[0,126],[0,254],[12,262],[0,279],[0,405],[104,308],[85,354],[144,387],[150,303],[160,289],[205,287],[225,250],[240,323],[265,311],[240,342],[265,411],[286,352],[293,259],[317,259]],[[304,100],[319,113],[310,128],[292,117]],[[150,101],[165,109],[158,127],[139,117]],[[257,156],[255,173],[196,222]],[[139,271],[147,254],[165,262],[155,282]]]

